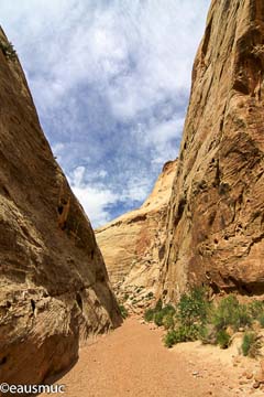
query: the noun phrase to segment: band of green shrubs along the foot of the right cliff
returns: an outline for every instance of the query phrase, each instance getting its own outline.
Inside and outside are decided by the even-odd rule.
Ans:
[[[260,353],[261,339],[251,330],[256,322],[258,328],[264,328],[264,301],[242,304],[234,294],[230,294],[218,303],[211,303],[205,288],[195,288],[184,293],[175,307],[163,305],[160,300],[155,308],[146,310],[144,319],[164,326],[167,331],[164,344],[167,347],[200,340],[228,348],[232,334],[243,331],[242,353],[254,357]]]

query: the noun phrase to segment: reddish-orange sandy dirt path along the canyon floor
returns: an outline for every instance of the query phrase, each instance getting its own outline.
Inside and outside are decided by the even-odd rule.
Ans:
[[[161,330],[128,319],[82,347],[78,363],[56,383],[66,385],[67,397],[263,396],[252,380],[241,380],[243,368],[198,348],[167,350],[161,339]]]

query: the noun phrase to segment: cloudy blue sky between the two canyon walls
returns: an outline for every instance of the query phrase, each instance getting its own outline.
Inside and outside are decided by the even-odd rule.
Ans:
[[[209,0],[0,0],[44,132],[94,227],[178,153]]]

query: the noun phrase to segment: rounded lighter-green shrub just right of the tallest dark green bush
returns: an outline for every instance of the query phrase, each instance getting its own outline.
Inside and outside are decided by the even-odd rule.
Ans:
[[[212,323],[218,331],[229,325],[234,331],[240,326],[250,325],[252,318],[245,304],[240,304],[234,296],[223,298],[212,312]]]

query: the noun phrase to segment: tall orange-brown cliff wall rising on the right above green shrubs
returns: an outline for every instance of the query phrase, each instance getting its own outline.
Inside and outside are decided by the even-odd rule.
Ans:
[[[212,1],[167,218],[162,290],[264,293],[264,2]]]

